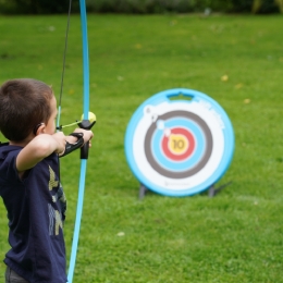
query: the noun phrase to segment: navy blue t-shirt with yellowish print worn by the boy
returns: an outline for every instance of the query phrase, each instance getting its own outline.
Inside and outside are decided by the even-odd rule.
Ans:
[[[0,146],[0,195],[9,219],[4,262],[30,283],[65,283],[65,196],[52,153],[19,177],[19,146]]]

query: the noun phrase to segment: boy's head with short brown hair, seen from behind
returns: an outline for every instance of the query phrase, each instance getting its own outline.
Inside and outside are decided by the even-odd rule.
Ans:
[[[0,131],[13,142],[24,140],[51,115],[51,87],[32,78],[5,82],[0,87]]]

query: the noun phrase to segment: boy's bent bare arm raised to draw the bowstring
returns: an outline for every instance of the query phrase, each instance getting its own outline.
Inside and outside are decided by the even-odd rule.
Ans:
[[[52,152],[62,153],[65,150],[65,136],[59,132],[53,135],[40,134],[33,138],[19,153],[16,169],[21,173],[35,167]]]

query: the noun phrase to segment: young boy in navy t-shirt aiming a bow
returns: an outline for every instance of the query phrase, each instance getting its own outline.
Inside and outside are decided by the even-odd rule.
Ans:
[[[0,196],[11,245],[7,283],[67,281],[59,156],[66,145],[83,146],[94,134],[82,128],[70,136],[56,133],[56,116],[57,101],[45,83],[21,78],[0,87],[0,131],[9,140],[0,145]]]

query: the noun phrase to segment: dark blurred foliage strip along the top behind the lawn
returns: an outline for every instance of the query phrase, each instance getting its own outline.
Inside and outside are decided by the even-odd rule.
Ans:
[[[12,14],[56,14],[67,11],[70,0],[0,0],[0,11]],[[86,0],[88,11],[96,13],[278,13],[283,0]],[[73,0],[78,12],[78,0]]]

